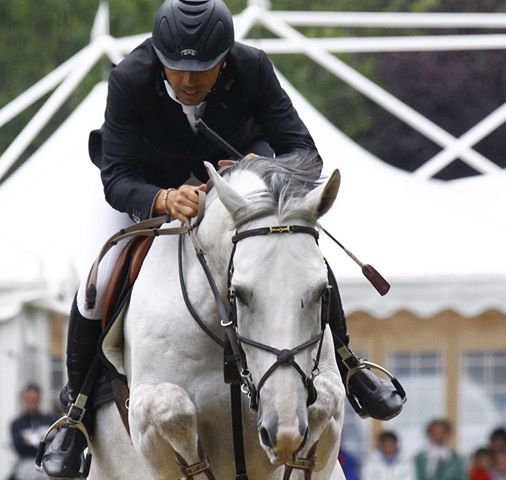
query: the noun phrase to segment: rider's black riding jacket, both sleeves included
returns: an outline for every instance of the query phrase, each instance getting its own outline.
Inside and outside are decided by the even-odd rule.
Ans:
[[[161,188],[177,188],[192,174],[204,181],[202,162],[227,158],[201,133],[193,133],[163,80],[148,39],[111,72],[99,154],[93,135],[90,139],[107,201],[135,220],[149,218]],[[236,42],[206,100],[203,120],[244,154],[258,139],[277,155],[316,149],[261,50]]]

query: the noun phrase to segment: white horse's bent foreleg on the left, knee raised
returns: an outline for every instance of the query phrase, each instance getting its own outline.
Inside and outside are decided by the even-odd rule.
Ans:
[[[181,387],[142,383],[130,393],[130,429],[136,450],[147,461],[153,478],[179,478],[174,452],[187,465],[202,460],[198,451],[197,410]],[[204,480],[205,474],[195,480]]]

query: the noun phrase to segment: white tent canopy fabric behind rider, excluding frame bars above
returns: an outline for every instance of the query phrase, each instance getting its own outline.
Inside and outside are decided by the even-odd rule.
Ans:
[[[376,316],[506,311],[506,217],[499,212],[506,172],[451,183],[420,180],[361,149],[283,83],[315,137],[325,171],[342,173],[341,191],[323,224],[392,283],[380,297],[360,268],[322,239],[346,310]],[[87,137],[103,121],[105,96],[101,83],[0,188],[2,284],[43,280],[55,295],[69,283],[75,287],[77,272],[83,273],[77,258],[79,238],[86,235],[82,218],[98,181]]]

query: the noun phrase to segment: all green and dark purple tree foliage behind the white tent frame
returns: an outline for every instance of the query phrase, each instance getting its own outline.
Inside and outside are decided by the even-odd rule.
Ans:
[[[226,0],[233,13],[247,0]],[[151,30],[160,0],[109,0],[111,33],[121,37]],[[2,0],[0,2],[0,106],[33,85],[89,42],[98,0]],[[273,0],[275,10],[499,12],[502,0]],[[300,28],[309,36],[405,34],[406,31]],[[251,36],[263,35],[256,29]],[[432,33],[409,31],[409,34]],[[455,33],[435,31],[433,33]],[[454,135],[461,135],[504,101],[504,51],[346,54],[338,57]],[[332,122],[385,161],[414,170],[440,147],[385,112],[303,55],[273,56],[276,66]],[[95,68],[25,154],[37,148],[104,75]],[[40,107],[0,129],[3,152]],[[499,129],[477,149],[505,165]],[[21,159],[21,161],[23,160]],[[473,173],[454,162],[441,178]]]

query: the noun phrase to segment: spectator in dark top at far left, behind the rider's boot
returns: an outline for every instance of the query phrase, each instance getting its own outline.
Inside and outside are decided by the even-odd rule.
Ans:
[[[40,388],[36,384],[23,389],[21,406],[21,415],[11,423],[12,444],[19,459],[10,480],[46,478],[35,471],[35,455],[42,436],[56,419],[40,412]]]

